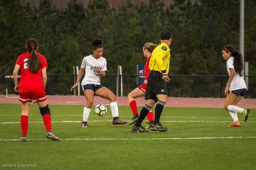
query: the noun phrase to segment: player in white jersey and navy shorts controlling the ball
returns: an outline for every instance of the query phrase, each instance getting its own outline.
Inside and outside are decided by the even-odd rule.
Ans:
[[[92,109],[94,96],[100,96],[110,101],[110,109],[112,112],[113,125],[124,125],[126,122],[118,117],[118,106],[116,96],[107,89],[107,87],[100,84],[100,77],[105,77],[107,71],[107,61],[102,57],[103,45],[102,40],[96,39],[92,41],[93,54],[83,58],[80,70],[78,72],[78,79],[71,87],[73,91],[78,86],[82,74],[85,72],[85,77],[82,79],[82,90],[85,94],[85,108],[83,109],[82,128],[88,128],[87,120]]]

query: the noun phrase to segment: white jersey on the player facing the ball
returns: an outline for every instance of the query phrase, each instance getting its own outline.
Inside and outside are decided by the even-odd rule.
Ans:
[[[97,68],[100,70],[107,70],[107,60],[104,57],[95,59],[92,55],[88,55],[83,58],[81,68],[85,69],[85,77],[82,79],[81,85],[85,84],[97,84],[100,85],[100,76],[96,72]]]

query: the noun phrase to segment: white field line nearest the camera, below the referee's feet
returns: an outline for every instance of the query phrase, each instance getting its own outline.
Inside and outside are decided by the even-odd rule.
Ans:
[[[152,138],[67,138],[60,140],[221,140],[221,139],[255,139],[256,136],[248,137],[152,137]],[[0,141],[19,141],[20,139],[0,139]],[[43,141],[47,139],[30,139],[33,141]],[[29,140],[28,140],[29,141]]]

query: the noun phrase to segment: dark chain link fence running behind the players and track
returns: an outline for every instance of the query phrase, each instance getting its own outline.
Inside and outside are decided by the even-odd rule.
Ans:
[[[48,74],[48,83],[46,94],[48,95],[74,95],[70,91],[76,79],[75,74]],[[0,75],[0,94],[14,94],[14,81],[5,75]],[[127,96],[132,89],[137,87],[136,74],[107,74],[102,78],[102,85],[109,88],[114,94],[117,94],[117,79],[119,79],[119,96],[120,80],[122,77],[123,96]],[[178,97],[225,97],[224,89],[228,80],[227,75],[170,75],[171,83],[168,84],[168,96]],[[248,90],[246,98],[256,98],[256,75],[247,76]],[[75,91],[78,95],[78,89]],[[80,95],[82,88],[80,88]]]

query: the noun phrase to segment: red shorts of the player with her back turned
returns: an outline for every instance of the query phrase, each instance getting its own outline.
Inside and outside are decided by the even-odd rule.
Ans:
[[[46,93],[36,93],[36,92],[23,92],[20,94],[20,101],[21,103],[26,102],[42,102],[46,101]]]

